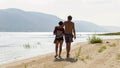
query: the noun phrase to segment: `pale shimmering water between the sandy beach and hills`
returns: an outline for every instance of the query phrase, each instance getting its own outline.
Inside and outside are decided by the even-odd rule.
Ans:
[[[77,39],[72,44],[87,41],[91,34],[94,32],[77,32]],[[120,36],[100,38],[116,39]],[[52,32],[0,32],[0,64],[54,52],[53,41]]]

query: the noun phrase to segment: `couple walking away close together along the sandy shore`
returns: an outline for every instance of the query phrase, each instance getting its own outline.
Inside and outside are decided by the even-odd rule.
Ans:
[[[76,32],[75,32],[75,25],[71,21],[72,16],[68,16],[68,20],[65,22],[60,21],[58,24],[59,26],[56,26],[54,29],[54,35],[55,35],[55,58],[59,57],[61,58],[61,51],[62,51],[62,44],[64,41],[65,36],[65,42],[66,42],[66,51],[67,55],[66,57],[70,57],[70,49],[71,49],[71,42],[73,42],[73,38],[76,39]],[[58,48],[59,48],[59,54],[58,54]]]

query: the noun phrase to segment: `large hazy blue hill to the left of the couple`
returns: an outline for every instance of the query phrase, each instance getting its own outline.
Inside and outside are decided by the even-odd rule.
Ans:
[[[0,10],[0,31],[52,31],[60,18],[38,12],[19,9]]]

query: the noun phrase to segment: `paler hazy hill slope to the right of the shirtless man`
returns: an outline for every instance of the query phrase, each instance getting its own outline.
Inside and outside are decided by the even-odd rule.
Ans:
[[[74,21],[76,25],[76,31],[81,32],[106,32],[107,29],[87,21]]]

